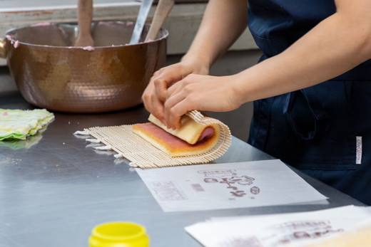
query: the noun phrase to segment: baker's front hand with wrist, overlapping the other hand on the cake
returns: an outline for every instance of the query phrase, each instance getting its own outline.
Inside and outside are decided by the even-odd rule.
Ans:
[[[237,75],[187,75],[167,90],[163,105],[168,127],[181,127],[181,116],[190,110],[225,112],[242,104]]]

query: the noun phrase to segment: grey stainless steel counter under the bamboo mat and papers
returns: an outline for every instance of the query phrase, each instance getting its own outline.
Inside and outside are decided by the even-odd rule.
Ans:
[[[33,108],[17,93],[0,93],[0,107]],[[164,213],[128,164],[117,162],[113,155],[95,152],[85,140],[73,135],[85,127],[146,122],[148,113],[143,107],[101,114],[54,113],[56,120],[42,135],[29,142],[0,142],[0,247],[88,246],[91,229],[106,221],[143,224],[151,238],[151,246],[200,246],[184,231],[184,226],[211,216],[362,205],[300,174],[328,196],[330,204]],[[216,162],[271,158],[233,138],[228,152]]]

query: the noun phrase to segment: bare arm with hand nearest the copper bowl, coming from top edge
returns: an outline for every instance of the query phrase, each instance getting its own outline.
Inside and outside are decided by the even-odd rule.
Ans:
[[[151,78],[142,99],[146,109],[164,121],[168,88],[187,75],[207,75],[210,65],[240,36],[247,25],[246,0],[210,0],[198,33],[180,63],[161,68]]]

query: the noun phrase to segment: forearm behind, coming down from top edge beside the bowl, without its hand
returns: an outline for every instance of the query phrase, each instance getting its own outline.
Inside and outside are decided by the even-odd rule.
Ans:
[[[240,36],[247,25],[246,0],[210,0],[203,20],[183,61],[210,65]]]

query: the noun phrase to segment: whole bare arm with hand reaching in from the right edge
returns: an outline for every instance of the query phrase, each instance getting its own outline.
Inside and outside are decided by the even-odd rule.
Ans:
[[[241,104],[316,85],[371,58],[371,0],[335,0],[337,11],[278,56],[228,77],[189,75],[168,90],[166,122],[188,110]],[[216,88],[218,87],[218,88]]]

